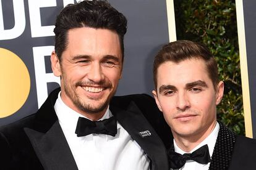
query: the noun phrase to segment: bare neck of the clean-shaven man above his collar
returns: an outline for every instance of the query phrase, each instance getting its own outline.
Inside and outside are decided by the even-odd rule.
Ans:
[[[173,137],[179,148],[181,148],[184,152],[190,152],[211,134],[215,126],[216,121],[210,124],[205,131],[198,134],[189,134],[189,136],[184,136],[173,132]]]

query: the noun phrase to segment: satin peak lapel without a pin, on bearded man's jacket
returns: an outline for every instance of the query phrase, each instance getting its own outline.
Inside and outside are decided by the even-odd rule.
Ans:
[[[58,121],[46,133],[27,127],[24,131],[45,169],[78,169]]]

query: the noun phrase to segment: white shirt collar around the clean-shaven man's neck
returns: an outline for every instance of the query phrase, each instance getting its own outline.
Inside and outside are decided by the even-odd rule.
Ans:
[[[213,155],[213,149],[215,147],[215,143],[216,143],[216,140],[217,140],[217,137],[218,137],[218,132],[220,130],[220,124],[217,122],[216,123],[216,126],[214,127],[213,131],[210,133],[210,135],[205,138],[200,144],[198,144],[194,149],[192,149],[189,153],[192,153],[194,152],[195,150],[197,150],[198,148],[202,147],[203,145],[208,145],[208,148],[209,148],[209,153],[210,153],[210,156]],[[175,152],[177,153],[181,153],[182,155],[184,153],[187,153],[187,152],[184,152],[181,148],[179,148],[175,142],[175,140],[173,139],[173,144],[174,144],[174,150]]]

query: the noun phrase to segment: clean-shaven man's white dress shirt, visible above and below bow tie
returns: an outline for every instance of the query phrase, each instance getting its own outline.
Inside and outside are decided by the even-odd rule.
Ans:
[[[218,124],[218,122],[217,122],[215,128],[210,133],[210,135],[207,138],[205,138],[205,140],[203,140],[199,145],[197,145],[197,147],[195,147],[189,153],[192,153],[195,150],[197,150],[198,148],[207,144],[208,148],[209,148],[210,156],[212,156],[213,155],[213,149],[215,147],[215,143],[216,143],[216,140],[217,140],[217,137],[218,137],[219,130],[220,130],[220,124]],[[184,153],[187,153],[187,152],[184,152],[181,148],[179,148],[177,146],[174,139],[173,139],[173,143],[174,143],[174,151],[175,152],[181,153],[182,155]],[[189,160],[189,161],[186,161],[185,165],[182,168],[180,168],[180,170],[208,170],[209,166],[210,166],[210,163],[200,164],[200,163],[197,163],[196,161]]]

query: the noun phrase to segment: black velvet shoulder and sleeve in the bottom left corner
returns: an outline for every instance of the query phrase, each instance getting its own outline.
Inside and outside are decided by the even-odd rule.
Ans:
[[[1,127],[0,169],[43,169],[23,126],[33,123],[33,115]]]

